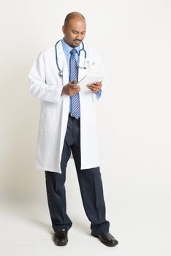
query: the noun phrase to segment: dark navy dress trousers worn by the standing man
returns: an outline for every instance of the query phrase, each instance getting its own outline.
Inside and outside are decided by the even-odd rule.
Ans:
[[[66,165],[71,155],[74,157],[77,178],[80,186],[86,216],[91,222],[95,235],[109,231],[110,222],[105,219],[105,203],[102,178],[99,167],[80,170],[80,118],[69,115],[64,148],[61,156],[61,173],[45,170],[47,202],[53,230],[72,227],[72,221],[66,214]]]

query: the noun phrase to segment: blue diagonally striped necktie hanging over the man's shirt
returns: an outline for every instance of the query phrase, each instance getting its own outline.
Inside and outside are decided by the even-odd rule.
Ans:
[[[71,56],[69,59],[69,81],[78,79],[78,67],[77,61],[75,59],[76,50],[73,48],[71,51]],[[76,119],[80,118],[80,96],[79,93],[71,97],[71,113]]]

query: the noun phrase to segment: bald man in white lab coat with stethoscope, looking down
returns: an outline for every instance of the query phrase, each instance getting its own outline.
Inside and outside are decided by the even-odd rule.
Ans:
[[[53,241],[66,245],[72,227],[66,214],[64,186],[72,154],[91,235],[107,246],[115,246],[118,241],[109,233],[110,222],[105,219],[97,143],[96,102],[104,84],[96,82],[81,89],[77,85],[88,73],[104,73],[104,67],[98,53],[83,44],[83,15],[66,15],[62,31],[64,38],[42,50],[28,74],[30,92],[41,100],[36,167],[45,170]]]

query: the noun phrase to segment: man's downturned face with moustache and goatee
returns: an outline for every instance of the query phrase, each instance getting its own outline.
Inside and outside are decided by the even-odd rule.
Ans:
[[[65,42],[72,48],[80,45],[86,36],[86,22],[80,17],[69,20],[66,26],[62,27]]]

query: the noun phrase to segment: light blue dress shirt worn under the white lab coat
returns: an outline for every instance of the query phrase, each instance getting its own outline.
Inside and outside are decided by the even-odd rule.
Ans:
[[[70,56],[71,56],[71,53],[70,51],[73,49],[71,46],[69,46],[68,44],[66,44],[66,42],[64,41],[64,38],[61,40],[61,43],[62,43],[62,48],[64,50],[64,54],[65,54],[65,57],[66,57],[66,64],[67,64],[67,67],[68,67],[68,74],[69,74],[69,59],[70,59]],[[80,50],[80,45],[75,47],[75,50],[76,53],[75,53],[75,59],[77,61],[77,65],[78,65],[78,53],[79,53],[79,50]],[[99,98],[102,94],[102,90],[100,90],[96,96]],[[70,106],[69,106],[69,113],[71,112],[71,100],[70,100]]]

